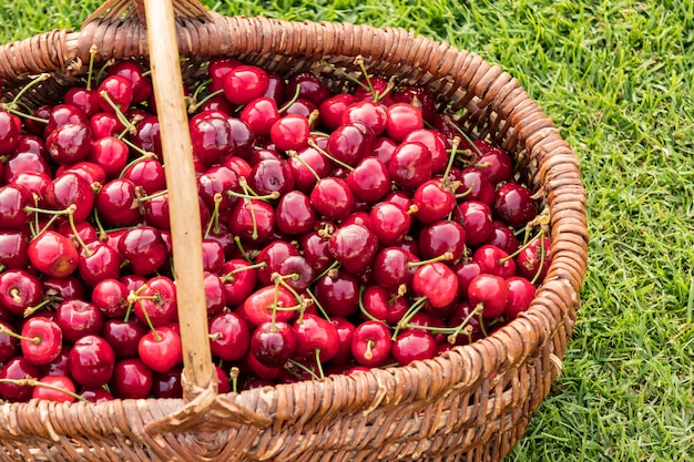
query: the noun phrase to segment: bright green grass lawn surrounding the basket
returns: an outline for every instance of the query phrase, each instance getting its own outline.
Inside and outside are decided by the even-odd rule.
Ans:
[[[0,42],[78,28],[98,4],[3,2]],[[581,161],[592,240],[563,373],[508,460],[694,459],[694,2],[205,4],[410,28],[517,76]]]

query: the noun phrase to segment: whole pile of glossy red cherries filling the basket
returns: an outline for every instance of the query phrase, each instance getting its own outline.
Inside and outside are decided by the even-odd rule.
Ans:
[[[201,69],[185,97],[220,392],[406,366],[529,308],[548,213],[429,89]],[[181,397],[185,261],[146,69],[19,96],[0,109],[0,399]]]

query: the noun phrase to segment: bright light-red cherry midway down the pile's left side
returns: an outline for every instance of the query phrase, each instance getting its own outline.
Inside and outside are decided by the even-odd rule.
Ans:
[[[76,247],[68,237],[53,230],[34,237],[28,253],[31,265],[48,276],[67,277],[78,268]]]

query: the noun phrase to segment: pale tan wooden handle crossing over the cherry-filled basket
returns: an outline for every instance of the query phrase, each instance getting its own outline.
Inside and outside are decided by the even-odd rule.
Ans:
[[[172,0],[144,0],[144,7],[152,84],[169,185],[174,277],[183,343],[183,398],[187,401],[201,389],[216,392],[203,285],[197,184]],[[186,384],[188,381],[191,386]]]

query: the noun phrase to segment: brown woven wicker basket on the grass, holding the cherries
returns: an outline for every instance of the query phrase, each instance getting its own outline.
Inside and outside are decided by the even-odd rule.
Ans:
[[[146,60],[153,50],[154,66],[161,48],[154,47],[146,31],[166,37],[159,28],[171,18],[173,31],[174,13],[178,52],[185,58],[184,81],[198,76],[196,63],[216,55],[236,57],[283,74],[310,69],[323,75],[330,75],[334,68],[358,74],[355,58],[363,57],[370,74],[429,86],[438,95],[439,109],[457,114],[471,137],[488,137],[521,162],[524,179],[550,209],[552,265],[529,311],[470,346],[407,367],[241,393],[217,394],[208,386],[211,366],[203,351],[206,322],[200,321],[200,309],[182,310],[180,316],[191,319],[190,326],[182,322],[186,343],[183,399],[3,403],[0,459],[503,459],[561,370],[586,269],[585,192],[579,163],[552,121],[499,66],[405,30],[228,18],[206,11],[196,0],[177,1],[173,9],[167,2],[151,3],[155,7],[146,1],[111,0],[79,32],[57,30],[0,47],[6,97],[17,94],[30,75],[48,72],[52,79],[32,88],[23,99],[32,105],[54,102],[84,74],[92,45],[100,62]],[[146,17],[164,22],[145,21],[149,8],[161,8]],[[165,75],[167,71],[159,72]],[[336,85],[346,84],[334,76]],[[167,165],[173,165],[173,158]],[[182,165],[187,162],[180,161]],[[172,208],[172,215],[185,215]],[[174,251],[175,243],[174,236]],[[177,274],[177,278],[184,276]]]

